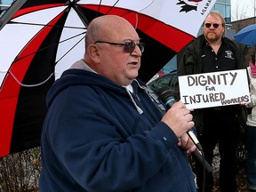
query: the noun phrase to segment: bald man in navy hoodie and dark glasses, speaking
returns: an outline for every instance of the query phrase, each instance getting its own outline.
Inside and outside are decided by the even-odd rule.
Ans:
[[[192,116],[181,102],[166,112],[136,78],[143,51],[127,20],[92,20],[84,60],[46,98],[41,192],[196,192]]]

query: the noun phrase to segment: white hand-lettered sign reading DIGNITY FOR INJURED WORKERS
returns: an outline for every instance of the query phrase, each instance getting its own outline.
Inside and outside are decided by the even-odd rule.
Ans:
[[[246,69],[179,76],[180,100],[187,108],[210,108],[250,101]]]

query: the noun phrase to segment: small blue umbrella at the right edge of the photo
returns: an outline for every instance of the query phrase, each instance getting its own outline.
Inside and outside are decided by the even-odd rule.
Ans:
[[[251,47],[256,45],[256,24],[242,28],[234,37],[237,43],[247,44]]]

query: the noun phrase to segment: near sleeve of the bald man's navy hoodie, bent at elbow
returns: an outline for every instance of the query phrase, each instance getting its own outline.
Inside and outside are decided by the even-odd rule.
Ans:
[[[81,126],[84,121],[91,121],[91,126]],[[170,158],[170,150],[177,148],[175,134],[163,122],[127,140],[107,124],[92,114],[70,118],[60,125],[52,140],[52,148],[70,180],[88,191],[137,188],[159,172]],[[172,158],[176,158],[174,153]]]

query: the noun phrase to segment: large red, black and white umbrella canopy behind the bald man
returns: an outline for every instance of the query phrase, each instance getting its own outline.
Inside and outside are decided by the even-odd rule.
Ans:
[[[16,1],[19,2],[19,1]],[[39,146],[45,95],[63,70],[84,56],[91,20],[115,14],[136,28],[146,50],[147,82],[195,38],[215,1],[20,0],[0,20],[0,156]],[[12,8],[12,7],[11,7]]]

